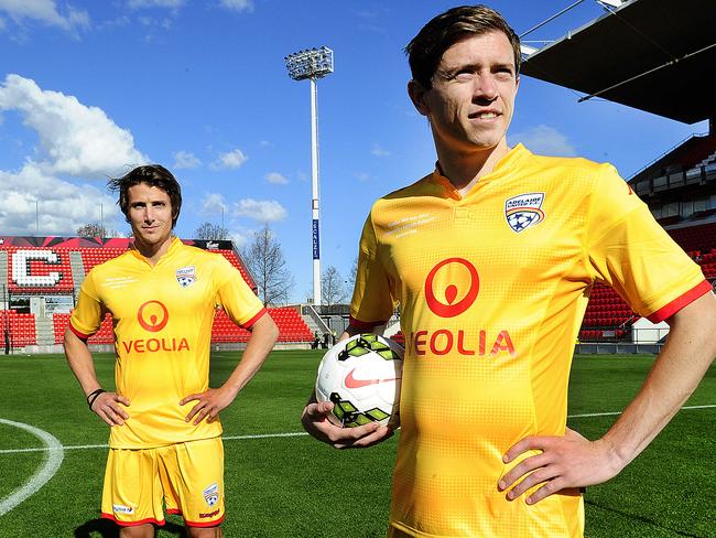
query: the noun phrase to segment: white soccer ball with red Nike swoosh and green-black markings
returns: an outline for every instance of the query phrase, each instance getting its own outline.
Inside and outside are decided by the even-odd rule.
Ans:
[[[332,401],[338,426],[400,426],[403,348],[377,334],[356,334],[326,352],[318,366],[316,400]]]

